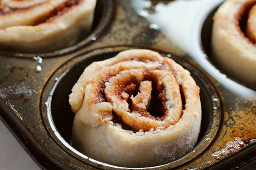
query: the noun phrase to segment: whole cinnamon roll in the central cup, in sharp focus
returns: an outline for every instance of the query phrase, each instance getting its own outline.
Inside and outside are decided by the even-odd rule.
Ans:
[[[199,87],[190,72],[146,49],[86,67],[69,103],[72,145],[112,165],[166,164],[192,150],[200,131]]]

